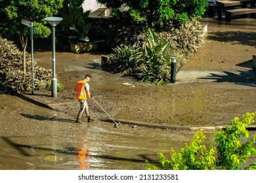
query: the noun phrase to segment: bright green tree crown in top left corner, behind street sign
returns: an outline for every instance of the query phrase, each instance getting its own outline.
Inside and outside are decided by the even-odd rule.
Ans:
[[[21,20],[26,19],[33,22],[34,37],[48,37],[51,30],[44,25],[47,24],[43,18],[58,14],[58,9],[62,7],[63,0],[33,1],[0,0],[0,34],[5,37],[30,36],[30,27],[21,24]]]

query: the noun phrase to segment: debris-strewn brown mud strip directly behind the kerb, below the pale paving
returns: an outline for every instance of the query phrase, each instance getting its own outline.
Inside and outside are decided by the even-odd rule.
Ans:
[[[135,87],[122,84],[127,81]],[[225,84],[223,87],[214,83],[136,86],[136,82],[127,79],[118,82],[109,86],[91,82],[93,98],[116,120],[157,125],[216,126],[230,124],[234,116],[240,117],[255,110],[255,89],[247,86]],[[51,91],[47,91],[33,96],[33,99],[38,97],[38,101],[49,101],[54,110],[75,120],[79,106],[74,99],[74,90],[59,92],[58,99],[50,96]],[[88,103],[95,118],[109,119],[92,99]]]

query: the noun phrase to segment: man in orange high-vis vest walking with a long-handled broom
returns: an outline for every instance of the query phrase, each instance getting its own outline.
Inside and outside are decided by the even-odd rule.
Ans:
[[[83,112],[87,116],[88,122],[93,122],[93,118],[89,115],[89,108],[87,104],[87,98],[91,98],[90,86],[88,82],[91,80],[91,75],[85,75],[83,80],[79,80],[75,84],[75,96],[80,103],[80,109],[75,120],[76,123],[81,123],[81,117]]]

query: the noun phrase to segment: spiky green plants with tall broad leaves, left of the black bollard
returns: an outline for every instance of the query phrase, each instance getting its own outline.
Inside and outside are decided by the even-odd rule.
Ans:
[[[144,35],[144,50],[139,51],[129,46],[114,48],[108,71],[137,75],[143,82],[152,84],[169,84],[170,61],[166,56],[169,42],[158,42],[154,31],[150,28],[148,31],[149,35]]]

